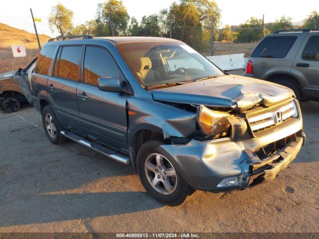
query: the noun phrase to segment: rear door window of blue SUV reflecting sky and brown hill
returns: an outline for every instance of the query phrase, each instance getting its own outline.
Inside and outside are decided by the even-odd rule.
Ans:
[[[74,81],[80,80],[79,64],[82,46],[64,46],[58,66],[58,77]]]

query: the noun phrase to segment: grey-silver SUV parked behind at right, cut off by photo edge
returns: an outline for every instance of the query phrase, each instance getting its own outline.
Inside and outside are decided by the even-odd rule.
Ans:
[[[319,28],[279,30],[251,54],[248,77],[291,88],[297,98],[319,99]]]

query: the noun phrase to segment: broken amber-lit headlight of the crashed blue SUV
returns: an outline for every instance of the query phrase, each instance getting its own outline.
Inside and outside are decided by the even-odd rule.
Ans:
[[[205,106],[200,106],[197,123],[200,130],[207,135],[227,134],[230,128],[228,121],[229,114],[210,110]]]

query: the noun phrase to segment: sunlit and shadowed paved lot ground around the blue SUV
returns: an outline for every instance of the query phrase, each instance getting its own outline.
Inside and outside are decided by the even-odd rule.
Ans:
[[[178,207],[149,197],[131,166],[49,142],[32,107],[0,112],[0,232],[319,232],[319,103],[307,142],[277,180]]]

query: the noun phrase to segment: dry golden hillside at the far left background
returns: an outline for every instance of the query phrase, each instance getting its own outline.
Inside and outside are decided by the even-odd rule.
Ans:
[[[0,48],[11,47],[11,45],[25,45],[26,49],[38,48],[35,34],[3,23],[0,23],[0,36]],[[43,44],[50,37],[40,34],[39,38]]]

